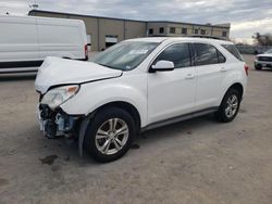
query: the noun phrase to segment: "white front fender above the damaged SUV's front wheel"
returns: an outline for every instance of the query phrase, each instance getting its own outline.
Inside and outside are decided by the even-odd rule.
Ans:
[[[128,81],[129,82],[128,82]],[[70,115],[89,115],[98,107],[111,102],[126,102],[139,113],[141,126],[147,123],[147,88],[137,80],[120,78],[84,84],[79,92],[61,105]],[[129,85],[129,86],[128,86]]]

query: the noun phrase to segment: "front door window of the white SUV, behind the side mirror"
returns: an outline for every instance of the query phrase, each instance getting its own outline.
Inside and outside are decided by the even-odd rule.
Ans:
[[[158,61],[171,61],[174,63],[175,68],[190,66],[189,43],[176,43],[168,47],[154,60],[153,64]]]

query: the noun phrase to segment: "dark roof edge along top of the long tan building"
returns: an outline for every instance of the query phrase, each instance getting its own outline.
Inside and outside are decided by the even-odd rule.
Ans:
[[[82,17],[96,17],[96,18],[106,18],[106,20],[116,20],[116,21],[131,21],[131,22],[141,22],[141,23],[166,23],[166,24],[186,24],[186,25],[196,25],[196,26],[207,26],[207,27],[219,27],[219,28],[227,28],[230,29],[231,24],[194,24],[194,23],[184,23],[184,22],[174,22],[174,21],[139,21],[139,20],[128,20],[128,18],[119,18],[119,17],[107,17],[107,16],[98,16],[98,15],[86,15],[86,14],[75,14],[75,13],[63,13],[55,11],[45,11],[45,10],[30,10],[28,15],[33,13],[47,13],[47,14],[60,14],[60,15],[70,15],[70,16],[82,16]]]

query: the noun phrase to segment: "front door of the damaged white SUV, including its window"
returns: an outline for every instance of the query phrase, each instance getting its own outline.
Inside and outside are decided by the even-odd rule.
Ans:
[[[173,62],[175,68],[148,74],[149,124],[190,113],[195,107],[196,78],[189,43],[169,46],[152,64],[162,60]]]

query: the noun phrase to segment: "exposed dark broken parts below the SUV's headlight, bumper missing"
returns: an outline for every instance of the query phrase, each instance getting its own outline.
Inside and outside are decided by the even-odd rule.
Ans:
[[[77,124],[81,122],[81,116],[69,115],[60,107],[51,110],[47,104],[38,104],[37,116],[40,130],[48,139],[61,136],[72,139],[78,136]]]

